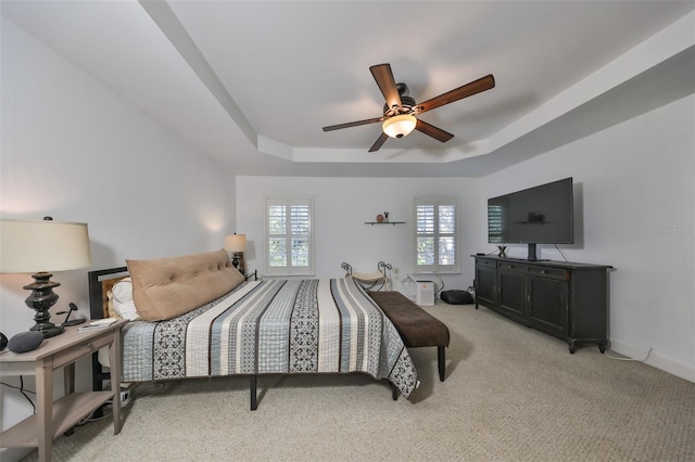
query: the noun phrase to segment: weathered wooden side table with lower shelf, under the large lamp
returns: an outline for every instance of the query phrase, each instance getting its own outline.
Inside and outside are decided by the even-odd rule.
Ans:
[[[46,338],[34,351],[0,355],[3,375],[36,375],[36,413],[0,434],[0,445],[7,448],[38,447],[39,461],[50,461],[53,439],[71,429],[104,402],[113,402],[114,435],[121,432],[121,328],[119,320],[108,328],[65,333]],[[109,346],[111,389],[75,393],[75,361]],[[65,368],[65,395],[53,401],[53,371]]]

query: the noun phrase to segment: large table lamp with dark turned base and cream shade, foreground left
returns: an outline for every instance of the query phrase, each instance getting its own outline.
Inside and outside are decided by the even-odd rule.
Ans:
[[[45,338],[62,334],[64,329],[50,322],[49,309],[58,301],[48,271],[66,271],[91,265],[87,223],[43,220],[0,220],[0,272],[33,273],[34,283],[23,288],[31,291],[26,305],[36,311],[30,331]]]

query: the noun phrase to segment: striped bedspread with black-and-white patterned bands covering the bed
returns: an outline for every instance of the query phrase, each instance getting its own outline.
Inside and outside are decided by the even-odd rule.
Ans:
[[[409,397],[417,371],[353,279],[245,282],[178,318],[126,324],[123,381],[363,372]]]

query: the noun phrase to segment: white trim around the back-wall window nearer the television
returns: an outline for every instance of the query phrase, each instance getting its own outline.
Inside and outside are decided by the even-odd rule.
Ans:
[[[418,234],[418,216],[417,216],[417,208],[418,206],[421,205],[432,205],[434,206],[435,213],[434,213],[434,220],[435,220],[435,229],[434,229],[434,233],[432,234],[432,236],[434,238],[434,258],[435,258],[435,264],[434,265],[427,265],[427,266],[418,266],[417,260],[418,260],[418,254],[417,254],[417,241],[418,241],[418,236],[421,234]],[[454,213],[455,213],[455,219],[454,219],[454,232],[453,233],[440,233],[439,230],[439,207],[442,205],[453,205],[454,206]],[[412,267],[413,267],[413,271],[415,274],[457,274],[460,273],[460,236],[459,234],[459,230],[460,230],[460,207],[458,205],[458,197],[453,196],[453,195],[431,195],[431,196],[414,196],[413,197],[413,205],[412,205],[412,210],[413,210],[413,227],[412,227],[412,246],[410,246],[410,256],[412,256]],[[455,258],[455,264],[454,265],[440,265],[439,262],[439,249],[438,249],[438,241],[439,241],[439,236],[447,236],[451,235],[454,239],[454,258]]]

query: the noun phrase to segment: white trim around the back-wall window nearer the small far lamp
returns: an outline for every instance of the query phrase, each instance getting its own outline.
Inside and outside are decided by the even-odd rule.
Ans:
[[[271,267],[270,266],[270,217],[268,214],[268,208],[270,205],[277,205],[277,203],[286,203],[286,206],[298,205],[298,204],[306,204],[308,205],[308,267],[292,267],[290,265],[290,256],[288,255],[288,265],[282,267]],[[316,271],[315,264],[315,245],[314,245],[314,196],[307,195],[291,195],[291,196],[266,196],[264,200],[264,211],[263,215],[265,217],[265,271],[268,277],[313,277]],[[275,204],[274,204],[275,203]],[[289,217],[289,214],[288,214]],[[288,220],[288,227],[291,226],[291,222]],[[286,239],[291,239],[291,234],[283,234]],[[287,238],[289,235],[289,238]]]

